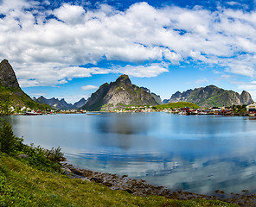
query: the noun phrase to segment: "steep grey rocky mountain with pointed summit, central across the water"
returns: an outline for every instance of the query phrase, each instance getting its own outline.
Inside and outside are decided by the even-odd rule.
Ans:
[[[121,75],[115,82],[104,84],[92,94],[84,110],[113,110],[125,105],[157,105],[150,93],[132,85],[127,75]]]

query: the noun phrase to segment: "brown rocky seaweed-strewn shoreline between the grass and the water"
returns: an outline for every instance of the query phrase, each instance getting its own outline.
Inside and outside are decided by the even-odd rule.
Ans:
[[[238,204],[240,206],[251,207],[256,204],[256,193],[250,194],[243,190],[242,193],[226,194],[224,191],[216,190],[214,195],[203,195],[189,191],[172,191],[164,186],[154,186],[142,179],[131,179],[127,175],[117,175],[111,173],[99,173],[91,170],[80,169],[72,164],[62,164],[63,174],[71,179],[83,179],[89,182],[106,185],[112,190],[127,191],[136,196],[162,196],[164,198],[177,200],[193,200],[203,198],[207,200],[221,200],[227,203]],[[228,196],[228,198],[227,198]]]

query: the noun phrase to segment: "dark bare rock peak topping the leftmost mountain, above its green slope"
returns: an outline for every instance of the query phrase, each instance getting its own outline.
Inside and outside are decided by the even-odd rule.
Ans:
[[[8,60],[0,63],[0,84],[9,88],[20,88],[16,74]]]

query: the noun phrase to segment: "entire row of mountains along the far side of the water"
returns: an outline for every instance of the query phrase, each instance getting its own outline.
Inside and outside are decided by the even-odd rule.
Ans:
[[[163,102],[157,94],[150,92],[145,87],[132,85],[127,75],[121,75],[115,82],[101,85],[88,100],[81,98],[77,103],[67,103],[64,98],[47,99],[45,97],[32,100],[20,88],[16,74],[8,60],[0,63],[0,110],[5,107],[29,107],[30,109],[48,109],[49,106],[56,110],[114,110],[131,105],[157,105],[162,103],[190,102],[200,107],[221,107],[253,103],[251,95],[247,91],[241,94],[235,91],[227,91],[215,85],[189,89],[188,91],[176,91],[170,99]]]

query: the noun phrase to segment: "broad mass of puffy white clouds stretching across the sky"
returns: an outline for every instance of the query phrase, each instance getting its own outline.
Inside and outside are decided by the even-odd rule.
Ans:
[[[38,8],[36,1],[0,2],[0,58],[10,60],[23,87],[109,72],[155,77],[182,61],[256,75],[256,11],[148,3],[124,11],[107,4]],[[96,67],[101,60],[116,64]],[[88,63],[95,67],[81,67]]]

